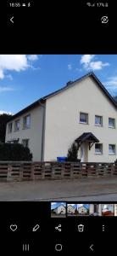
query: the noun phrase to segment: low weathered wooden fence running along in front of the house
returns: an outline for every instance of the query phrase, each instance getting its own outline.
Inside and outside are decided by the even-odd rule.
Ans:
[[[115,163],[0,162],[0,182],[112,176]]]

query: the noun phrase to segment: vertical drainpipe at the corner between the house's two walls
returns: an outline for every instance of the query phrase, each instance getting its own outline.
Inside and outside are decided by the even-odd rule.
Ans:
[[[41,161],[43,160],[43,151],[44,151],[44,137],[45,137],[45,114],[46,114],[46,104],[39,102],[43,108],[42,114],[42,149],[41,149]]]

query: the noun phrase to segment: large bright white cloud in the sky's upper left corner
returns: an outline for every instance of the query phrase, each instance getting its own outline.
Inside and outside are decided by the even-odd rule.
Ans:
[[[0,55],[0,79],[9,78],[11,75],[6,75],[6,71],[25,71],[31,67],[29,61],[36,61],[37,55]]]

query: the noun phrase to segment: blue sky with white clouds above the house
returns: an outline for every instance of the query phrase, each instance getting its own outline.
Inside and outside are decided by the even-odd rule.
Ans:
[[[17,113],[90,71],[117,95],[117,55],[0,55],[0,113]]]

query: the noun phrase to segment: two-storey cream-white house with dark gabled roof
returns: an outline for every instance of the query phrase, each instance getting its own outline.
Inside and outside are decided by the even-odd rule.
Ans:
[[[81,161],[114,162],[116,138],[117,105],[94,73],[15,113],[6,127],[6,143],[31,148],[33,160],[67,156],[75,142]]]

